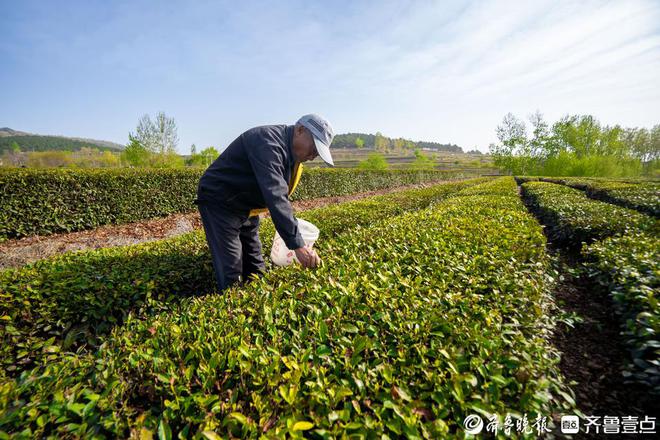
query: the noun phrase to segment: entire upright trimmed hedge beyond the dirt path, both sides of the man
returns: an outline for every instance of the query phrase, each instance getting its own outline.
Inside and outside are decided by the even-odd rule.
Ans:
[[[0,169],[0,240],[121,224],[195,209],[202,170]],[[461,177],[447,171],[305,170],[293,200]]]

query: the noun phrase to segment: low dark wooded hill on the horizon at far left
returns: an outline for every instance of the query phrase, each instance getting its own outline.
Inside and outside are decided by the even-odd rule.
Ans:
[[[101,151],[121,151],[123,145],[97,139],[85,139],[66,136],[48,136],[13,130],[9,127],[0,128],[0,153],[11,149],[16,142],[21,151],[64,150],[77,151],[82,147],[98,148]]]

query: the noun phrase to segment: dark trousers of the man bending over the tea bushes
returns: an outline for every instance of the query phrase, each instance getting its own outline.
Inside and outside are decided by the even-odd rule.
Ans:
[[[219,292],[265,270],[259,216],[248,218],[215,204],[198,204],[197,207],[211,250]]]

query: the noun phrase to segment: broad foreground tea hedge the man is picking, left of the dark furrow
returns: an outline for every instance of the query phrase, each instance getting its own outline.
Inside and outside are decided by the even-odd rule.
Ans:
[[[317,270],[131,315],[96,353],[6,381],[0,429],[445,438],[475,412],[565,411],[545,238],[513,179],[498,182],[506,195],[450,197],[320,240]]]

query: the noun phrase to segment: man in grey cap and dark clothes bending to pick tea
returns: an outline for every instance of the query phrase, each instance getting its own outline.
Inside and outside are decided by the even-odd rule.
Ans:
[[[289,195],[300,179],[302,162],[321,156],[334,166],[333,137],[330,124],[316,114],[303,116],[295,125],[255,127],[236,138],[204,172],[195,203],[219,291],[263,272],[260,212],[270,211],[275,229],[303,267],[321,262],[305,247]]]

